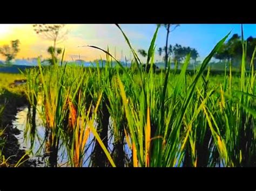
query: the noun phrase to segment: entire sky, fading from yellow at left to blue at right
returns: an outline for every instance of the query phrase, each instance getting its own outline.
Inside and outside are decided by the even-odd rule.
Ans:
[[[244,24],[244,37],[256,37],[256,24]],[[156,24],[120,24],[120,27],[129,38],[134,49],[147,49],[156,31]],[[105,54],[90,47],[79,47],[86,45],[98,46],[106,49],[109,47],[110,53],[116,55],[117,59],[127,60],[131,58],[131,51],[122,33],[114,24],[67,24],[68,30],[66,39],[57,47],[65,48],[65,60],[82,59],[93,61],[95,59],[105,59]],[[180,24],[176,30],[170,33],[169,42],[172,45],[180,44],[196,48],[199,53],[199,60],[204,59],[218,41],[231,31],[231,36],[235,33],[241,35],[240,24]],[[230,37],[231,37],[230,36]],[[0,24],[0,47],[9,44],[11,40],[19,39],[21,51],[17,59],[36,58],[42,55],[49,57],[47,49],[52,46],[49,41],[33,31],[32,24]],[[165,46],[166,29],[161,27],[158,32],[156,46]],[[123,56],[122,56],[123,55]],[[4,57],[0,55],[0,60]],[[143,59],[142,59],[143,60]],[[156,53],[155,60],[161,60]]]

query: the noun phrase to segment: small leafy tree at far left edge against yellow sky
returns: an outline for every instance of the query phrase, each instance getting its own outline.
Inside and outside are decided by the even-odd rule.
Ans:
[[[19,52],[19,40],[12,40],[11,46],[4,45],[0,48],[0,54],[6,57],[6,62],[9,63],[12,59],[15,59],[17,53]]]

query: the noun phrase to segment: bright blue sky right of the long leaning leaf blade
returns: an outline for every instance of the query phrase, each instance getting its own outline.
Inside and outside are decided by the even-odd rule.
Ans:
[[[156,25],[122,25],[124,30],[143,33],[147,39],[138,41],[136,46],[149,47],[150,39],[156,30]],[[170,34],[170,44],[180,44],[196,48],[200,58],[205,58],[218,41],[232,31],[230,37],[238,33],[241,35],[240,24],[181,24]],[[244,24],[244,37],[256,37],[256,24]],[[158,33],[156,44],[164,46],[166,30],[161,27]]]

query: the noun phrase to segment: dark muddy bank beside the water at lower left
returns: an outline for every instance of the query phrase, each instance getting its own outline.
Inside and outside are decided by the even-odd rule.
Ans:
[[[12,126],[12,121],[15,120],[16,114],[19,111],[18,108],[25,107],[29,103],[26,100],[25,95],[16,95],[5,90],[4,94],[0,95],[0,104],[5,105],[3,116],[0,118],[0,128],[5,128],[3,134],[5,144],[2,154],[5,159],[10,157],[8,159],[8,164],[14,166],[25,155],[25,150],[19,148],[18,139],[15,135],[19,135],[20,131]],[[22,161],[25,162],[20,167],[31,167],[36,165],[35,161],[28,159],[29,157],[26,155],[22,159]]]

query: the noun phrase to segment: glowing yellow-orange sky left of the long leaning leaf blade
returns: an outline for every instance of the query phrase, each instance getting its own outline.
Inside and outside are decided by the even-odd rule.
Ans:
[[[69,31],[66,40],[57,45],[66,49],[65,59],[76,60],[80,59],[92,61],[99,59],[102,56],[105,59],[105,54],[99,50],[78,47],[83,45],[94,45],[106,49],[110,47],[111,53],[114,55],[116,49],[117,58],[120,59],[121,51],[123,50],[124,56],[130,56],[130,51],[125,43],[122,33],[116,26],[111,24],[104,25],[91,25],[91,24],[68,24],[65,28]],[[132,37],[143,38],[143,34],[130,32]],[[16,59],[36,58],[42,55],[43,58],[49,57],[46,49],[52,46],[52,41],[46,40],[38,36],[33,31],[32,24],[0,24],[0,46],[10,44],[11,40],[19,39],[21,42],[20,49]],[[0,60],[4,57],[0,55]]]

